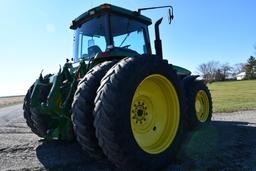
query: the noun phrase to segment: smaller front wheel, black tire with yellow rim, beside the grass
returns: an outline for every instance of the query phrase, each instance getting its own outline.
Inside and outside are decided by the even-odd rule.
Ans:
[[[187,125],[189,130],[207,125],[212,118],[212,97],[203,81],[194,81],[186,88]]]

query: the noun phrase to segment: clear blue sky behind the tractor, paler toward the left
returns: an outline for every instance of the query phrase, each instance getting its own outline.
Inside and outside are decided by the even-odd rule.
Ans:
[[[145,11],[160,26],[164,58],[196,73],[211,60],[233,65],[255,55],[255,0],[0,0],[0,96],[23,95],[44,74],[56,73],[73,56],[73,19],[102,3],[130,10],[172,5]],[[150,26],[151,42],[154,40]],[[152,44],[152,49],[153,49]]]

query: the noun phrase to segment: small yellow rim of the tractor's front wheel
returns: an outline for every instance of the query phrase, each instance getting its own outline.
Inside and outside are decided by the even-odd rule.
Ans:
[[[204,90],[200,90],[196,94],[196,117],[200,122],[205,122],[209,116],[209,99]]]

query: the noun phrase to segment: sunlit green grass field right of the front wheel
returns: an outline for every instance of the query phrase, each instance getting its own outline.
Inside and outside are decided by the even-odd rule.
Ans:
[[[226,81],[208,84],[213,112],[256,109],[256,80]]]

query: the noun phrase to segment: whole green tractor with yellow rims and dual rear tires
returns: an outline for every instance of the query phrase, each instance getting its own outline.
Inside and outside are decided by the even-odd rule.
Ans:
[[[156,170],[172,160],[185,133],[209,123],[210,92],[198,76],[163,59],[155,23],[152,54],[141,11],[103,4],[72,21],[74,59],[39,78],[24,99],[27,125],[45,140],[74,141],[119,168]]]

